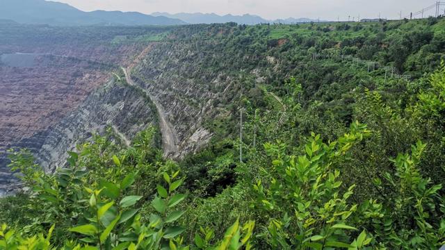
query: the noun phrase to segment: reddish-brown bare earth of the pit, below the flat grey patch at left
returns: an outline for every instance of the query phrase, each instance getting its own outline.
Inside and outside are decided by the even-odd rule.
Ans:
[[[82,62],[0,67],[0,147],[47,128],[108,78]]]

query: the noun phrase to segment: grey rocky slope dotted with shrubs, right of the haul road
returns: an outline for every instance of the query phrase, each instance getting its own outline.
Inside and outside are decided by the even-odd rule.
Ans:
[[[178,140],[177,157],[195,153],[211,139],[204,126],[217,115],[215,101],[233,97],[229,78],[218,72],[191,76],[199,72],[200,54],[193,44],[163,42],[156,44],[131,74],[133,81],[163,107]]]

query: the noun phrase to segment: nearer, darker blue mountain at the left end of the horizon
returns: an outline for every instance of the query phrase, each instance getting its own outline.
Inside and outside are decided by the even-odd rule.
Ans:
[[[179,19],[154,17],[140,12],[85,12],[66,3],[45,0],[2,0],[0,17],[20,24],[79,25],[178,25]]]

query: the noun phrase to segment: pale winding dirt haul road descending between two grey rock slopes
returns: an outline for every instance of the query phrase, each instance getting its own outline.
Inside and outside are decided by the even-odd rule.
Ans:
[[[125,69],[124,67],[121,68],[125,74],[125,80],[127,81],[127,83],[135,88],[138,88],[138,90],[142,90],[145,94],[147,94],[149,99],[152,100],[154,106],[156,106],[156,110],[158,111],[159,115],[159,127],[161,128],[162,134],[164,151],[163,156],[165,158],[177,158],[177,156],[179,156],[179,140],[177,137],[177,132],[172,124],[170,124],[170,122],[168,121],[167,114],[165,114],[163,107],[161,106],[161,104],[159,104],[156,98],[152,96],[152,94],[150,94],[147,90],[140,88],[140,86],[136,85],[133,80],[131,80],[131,76],[127,69]]]

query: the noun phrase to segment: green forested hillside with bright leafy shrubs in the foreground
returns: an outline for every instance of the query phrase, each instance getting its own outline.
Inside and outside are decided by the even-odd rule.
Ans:
[[[209,76],[230,79],[209,145],[173,161],[159,128],[130,147],[109,129],[55,173],[11,151],[25,188],[0,200],[0,249],[445,244],[445,19],[191,25],[114,42],[127,40],[197,48],[182,63],[200,70],[181,77],[209,90]]]

